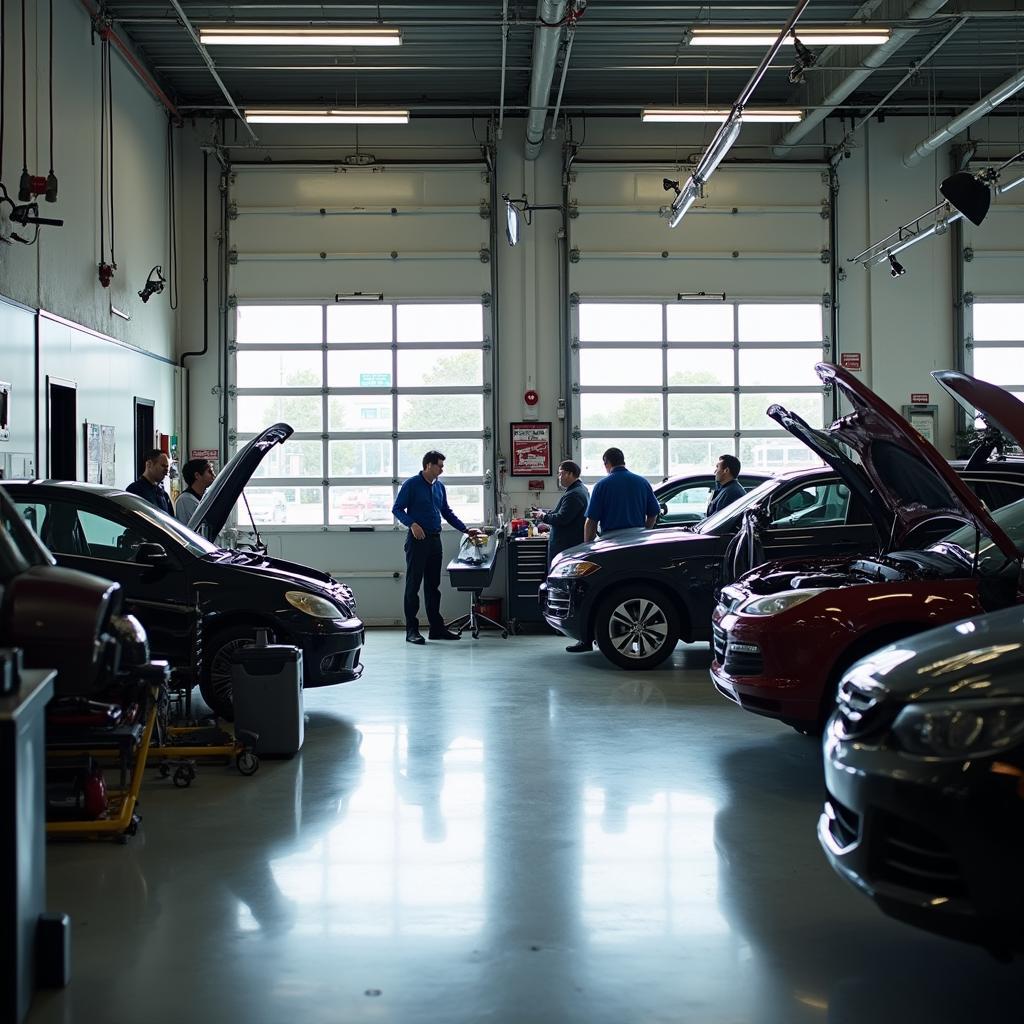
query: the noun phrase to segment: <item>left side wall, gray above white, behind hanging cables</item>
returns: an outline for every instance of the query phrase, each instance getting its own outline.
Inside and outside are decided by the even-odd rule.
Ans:
[[[28,163],[32,173],[42,175],[50,159],[48,6],[30,2],[27,7]],[[81,3],[55,0],[53,14],[53,166],[59,187],[55,204],[39,199],[40,214],[63,218],[65,226],[41,228],[35,246],[14,243],[0,247],[0,297],[27,307],[18,309],[0,302],[0,328],[4,331],[0,379],[17,379],[17,420],[13,424],[17,433],[9,442],[0,441],[0,455],[23,452],[31,440],[37,472],[45,472],[45,378],[53,374],[79,384],[80,420],[118,425],[118,482],[127,483],[133,475],[132,396],[157,400],[159,429],[171,433],[176,421],[175,313],[167,292],[147,304],[136,294],[152,266],[159,263],[167,269],[167,119],[164,108],[114,55],[118,268],[111,287],[103,289],[96,275],[100,51],[92,45],[89,18]],[[9,31],[2,41],[6,63],[3,181],[16,201],[23,163],[20,11],[12,4],[7,5],[6,28]],[[6,236],[11,225],[3,216],[0,231]],[[26,233],[25,228],[14,229]],[[131,321],[113,315],[112,304],[129,313]],[[36,309],[68,322],[40,321],[38,367]],[[104,340],[110,338],[131,347]],[[81,470],[81,457],[78,464]]]

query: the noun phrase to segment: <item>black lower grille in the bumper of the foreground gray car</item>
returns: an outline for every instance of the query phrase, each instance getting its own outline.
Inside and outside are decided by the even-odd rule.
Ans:
[[[930,897],[964,897],[967,882],[945,843],[929,829],[880,814],[871,829],[871,874],[880,882],[902,886]]]

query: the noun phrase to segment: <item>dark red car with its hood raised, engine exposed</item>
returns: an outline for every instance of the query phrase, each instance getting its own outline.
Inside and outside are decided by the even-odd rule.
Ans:
[[[990,513],[881,398],[841,368],[816,369],[853,412],[823,431],[780,406],[768,415],[833,465],[889,541],[870,557],[768,562],[723,588],[711,669],[722,694],[802,732],[820,728],[857,658],[1017,601],[1024,552],[1024,501]],[[990,425],[1024,439],[1024,404],[1013,395],[966,374],[935,377]]]

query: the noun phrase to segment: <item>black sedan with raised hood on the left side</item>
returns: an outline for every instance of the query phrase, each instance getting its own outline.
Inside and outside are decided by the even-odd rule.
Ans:
[[[193,521],[211,536],[226,522],[260,460],[292,433],[275,424],[225,466]],[[114,580],[145,627],[154,655],[207,703],[231,716],[229,657],[267,630],[303,652],[305,686],[357,679],[362,623],[355,598],[327,572],[260,551],[228,551],[134,495],[73,481],[2,481],[57,564]]]

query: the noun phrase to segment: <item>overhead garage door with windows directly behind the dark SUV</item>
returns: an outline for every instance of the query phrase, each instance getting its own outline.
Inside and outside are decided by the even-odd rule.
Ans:
[[[726,452],[751,470],[809,464],[765,411],[779,401],[814,425],[824,417],[813,367],[831,351],[827,178],[819,167],[720,169],[669,229],[664,176],[573,166],[572,416],[585,476],[603,472],[610,444],[652,479],[707,470]]]

